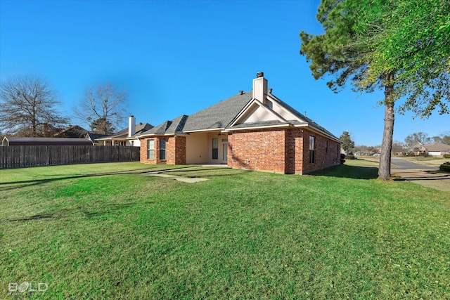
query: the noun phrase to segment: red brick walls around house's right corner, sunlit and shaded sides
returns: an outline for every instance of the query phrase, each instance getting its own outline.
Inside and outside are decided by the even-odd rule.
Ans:
[[[316,138],[314,163],[309,162],[309,136]],[[228,164],[234,169],[307,174],[340,163],[339,143],[307,129],[238,131],[228,141]]]

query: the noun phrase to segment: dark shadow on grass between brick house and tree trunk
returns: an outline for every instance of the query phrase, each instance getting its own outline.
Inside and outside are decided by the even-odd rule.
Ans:
[[[375,179],[378,178],[378,168],[376,167],[356,167],[340,164],[336,167],[330,167],[320,171],[314,171],[309,175],[313,176],[330,176],[339,178],[354,179]]]

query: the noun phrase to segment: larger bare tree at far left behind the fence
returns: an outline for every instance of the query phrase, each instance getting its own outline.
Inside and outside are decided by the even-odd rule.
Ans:
[[[56,92],[40,77],[22,76],[0,84],[0,129],[15,136],[51,136],[67,124],[56,110]]]

